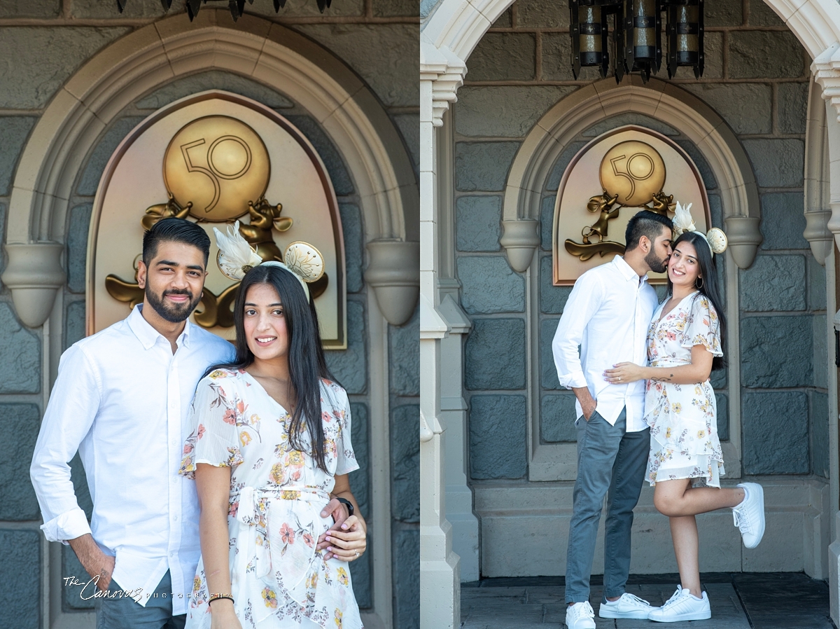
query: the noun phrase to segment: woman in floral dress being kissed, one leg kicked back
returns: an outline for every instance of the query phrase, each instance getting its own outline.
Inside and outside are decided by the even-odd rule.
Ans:
[[[680,233],[676,219],[675,232]],[[668,263],[669,299],[654,311],[648,329],[649,366],[622,362],[605,373],[612,383],[648,381],[647,477],[654,485],[654,505],[669,516],[681,581],[665,605],[648,616],[660,622],[711,617],[700,584],[696,515],[732,507],[748,548],[757,546],[764,534],[761,485],[721,488],[720,484],[723,457],[709,376],[712,368],[722,367],[725,321],[711,246],[700,232],[685,230],[673,250]]]

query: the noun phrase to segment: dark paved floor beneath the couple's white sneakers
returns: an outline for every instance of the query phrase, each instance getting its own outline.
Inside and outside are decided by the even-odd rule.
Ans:
[[[801,573],[706,573],[711,602],[707,621],[660,624],[598,618],[601,577],[591,582],[598,629],[837,629],[828,616],[828,585]],[[662,605],[674,593],[676,574],[632,574],[627,591]],[[482,579],[461,587],[462,629],[565,629],[563,577]]]

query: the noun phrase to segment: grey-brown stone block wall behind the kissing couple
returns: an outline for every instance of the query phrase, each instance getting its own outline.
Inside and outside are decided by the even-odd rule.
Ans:
[[[429,10],[432,10],[430,7]],[[501,193],[522,140],[561,98],[597,77],[570,68],[568,3],[519,0],[488,31],[467,61],[453,106],[456,269],[461,303],[474,323],[465,342],[470,404],[470,475],[474,481],[528,478],[525,389],[526,279],[499,246]],[[771,54],[772,51],[772,54]],[[752,162],[761,194],[764,244],[739,272],[742,382],[713,373],[718,428],[729,439],[731,387],[742,390],[744,473],[827,477],[825,271],[802,238],[804,134],[810,60],[793,34],[760,0],[706,2],[706,71],[697,81],[680,68],[671,80],[726,120]],[[659,79],[667,80],[660,71]],[[539,436],[575,441],[574,396],[561,389],[551,338],[570,288],[554,287],[551,229],[560,178],[585,143],[622,124],[668,135],[696,162],[722,227],[718,183],[701,152],[679,129],[640,114],[594,124],[570,141],[544,182],[538,262]],[[718,260],[719,277],[726,261]],[[660,299],[663,290],[659,288]],[[790,447],[792,441],[794,447]],[[772,456],[771,456],[772,453]]]

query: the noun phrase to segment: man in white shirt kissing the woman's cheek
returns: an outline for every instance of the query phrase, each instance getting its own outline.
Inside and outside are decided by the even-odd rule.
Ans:
[[[657,306],[647,273],[666,270],[672,237],[671,221],[663,215],[643,210],[633,216],[624,256],[577,279],[554,334],[559,382],[577,397],[578,472],[566,559],[569,629],[595,627],[589,579],[607,493],[599,616],[646,619],[653,609],[624,591],[633,508],[642,491],[650,447],[643,419],[644,381],[610,384],[604,370],[623,361],[647,363],[648,325]]]

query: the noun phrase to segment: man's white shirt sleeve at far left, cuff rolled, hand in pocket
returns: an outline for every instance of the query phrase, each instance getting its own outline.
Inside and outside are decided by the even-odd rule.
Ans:
[[[94,367],[81,347],[72,346],[61,357],[29,468],[44,518],[41,530],[49,542],[66,543],[91,532],[76,500],[68,463],[91,429],[100,399]]]

